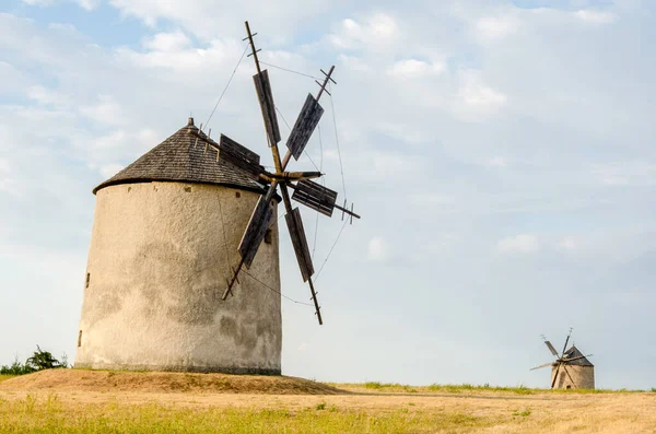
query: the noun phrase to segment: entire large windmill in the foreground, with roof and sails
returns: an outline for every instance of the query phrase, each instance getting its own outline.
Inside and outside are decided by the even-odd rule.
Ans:
[[[320,173],[285,168],[319,122],[318,99],[328,93],[332,68],[317,97],[307,96],[281,159],[269,75],[246,27],[276,172],[226,136],[210,139],[189,118],[98,185],[75,367],[280,374],[281,201],[321,324],[312,257],[291,200],[328,216],[336,208],[342,220],[360,216],[352,206],[336,204],[336,191],[311,180]]]

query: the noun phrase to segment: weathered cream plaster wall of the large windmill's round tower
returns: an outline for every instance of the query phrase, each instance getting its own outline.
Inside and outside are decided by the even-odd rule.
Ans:
[[[221,301],[258,198],[181,183],[101,189],[75,367],[279,374],[280,295],[242,273]],[[271,235],[248,273],[280,292],[277,225]]]

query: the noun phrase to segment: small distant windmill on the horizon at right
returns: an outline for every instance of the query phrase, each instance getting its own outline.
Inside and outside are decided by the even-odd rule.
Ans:
[[[567,350],[567,343],[572,337],[572,328],[565,339],[565,344],[560,355],[555,348],[548,341],[544,336],[544,344],[555,357],[555,361],[536,366],[530,371],[551,366],[551,388],[595,388],[594,365],[587,360],[593,354],[583,355],[581,351],[573,344]],[[562,371],[561,371],[562,370]],[[563,375],[564,373],[564,375]]]

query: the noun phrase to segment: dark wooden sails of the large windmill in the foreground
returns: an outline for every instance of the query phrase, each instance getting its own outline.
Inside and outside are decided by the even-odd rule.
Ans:
[[[281,141],[280,129],[278,127],[278,118],[276,115],[276,105],[273,104],[273,95],[271,92],[271,82],[269,80],[269,73],[265,69],[260,68],[260,62],[257,54],[260,49],[256,49],[254,36],[257,34],[253,34],[250,32],[250,26],[248,22],[246,24],[247,37],[244,40],[248,39],[250,44],[251,52],[248,55],[253,56],[255,60],[255,67],[257,69],[257,74],[254,75],[255,87],[257,92],[257,96],[259,99],[261,114],[265,122],[265,129],[267,132],[267,141],[269,148],[271,149],[271,154],[273,156],[273,164],[276,167],[276,172],[267,173],[267,172],[257,172],[257,180],[261,184],[268,186],[266,193],[263,193],[259,201],[257,202],[255,209],[253,210],[253,214],[250,216],[250,221],[244,231],[244,235],[242,236],[242,241],[238,246],[238,253],[241,256],[241,260],[236,268],[233,269],[233,277],[227,281],[227,288],[222,295],[222,300],[226,300],[229,295],[233,294],[233,288],[235,283],[238,283],[238,275],[242,268],[245,266],[247,269],[250,267],[255,255],[262,241],[265,239],[265,235],[267,230],[272,224],[273,221],[273,198],[278,190],[280,190],[280,195],[282,196],[282,201],[284,203],[285,209],[285,221],[286,226],[290,233],[290,237],[292,239],[292,245],[294,247],[294,253],[296,254],[296,260],[298,262],[298,268],[301,269],[301,274],[303,277],[303,281],[309,284],[309,291],[312,294],[312,300],[315,307],[315,313],[317,315],[317,319],[319,325],[323,324],[321,312],[317,301],[317,293],[314,288],[314,283],[312,277],[314,274],[314,267],[312,263],[312,257],[309,255],[309,249],[307,246],[307,237],[305,236],[305,231],[303,228],[303,221],[301,219],[301,211],[298,208],[292,208],[291,199],[303,203],[304,206],[321,213],[327,216],[331,216],[335,209],[342,211],[342,220],[345,214],[349,215],[351,223],[353,222],[353,218],[360,219],[360,215],[353,212],[353,206],[351,209],[347,209],[345,201],[344,207],[340,207],[336,203],[337,200],[337,191],[331,190],[313,181],[313,178],[318,178],[321,176],[319,172],[285,172],[288,164],[290,163],[291,157],[294,160],[298,160],[298,157],[303,154],[309,138],[314,129],[319,124],[321,115],[324,114],[324,108],[319,105],[319,99],[324,93],[328,93],[326,86],[329,82],[335,82],[331,78],[332,71],[335,70],[335,66],[330,67],[328,72],[321,70],[325,75],[324,82],[319,83],[315,80],[315,82],[319,85],[319,91],[317,96],[313,96],[308,94],[298,117],[296,118],[296,122],[292,128],[292,131],[286,141],[288,151],[284,156],[281,159],[280,150],[278,148],[278,143]],[[232,142],[232,143],[230,143]],[[221,146],[223,143],[223,146]],[[244,149],[236,142],[225,138],[222,136],[220,143],[220,149]],[[230,152],[229,152],[230,153]],[[247,163],[247,159],[236,159],[237,164],[244,165]],[[248,163],[246,164],[249,165]],[[250,167],[254,167],[250,164]],[[293,189],[294,192],[290,199],[289,189]]]

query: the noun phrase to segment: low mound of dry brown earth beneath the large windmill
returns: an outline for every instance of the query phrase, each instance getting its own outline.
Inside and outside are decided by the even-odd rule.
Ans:
[[[0,383],[0,390],[194,391],[268,395],[338,395],[345,390],[304,378],[168,372],[47,370]]]

